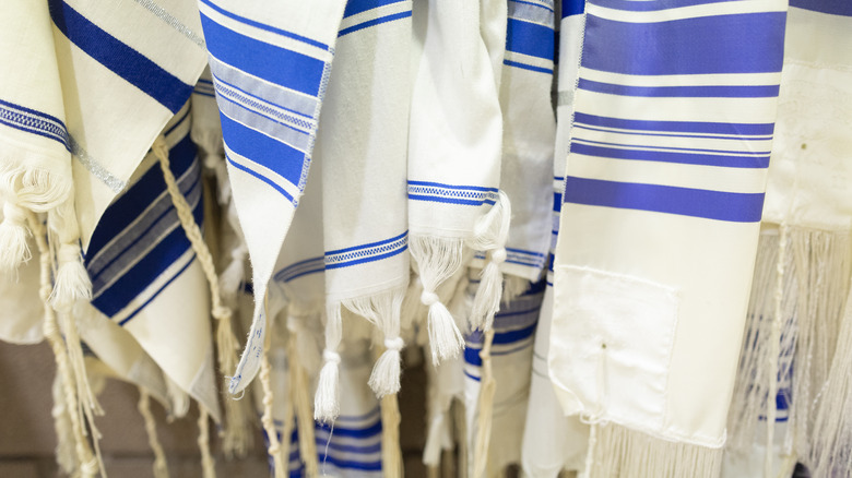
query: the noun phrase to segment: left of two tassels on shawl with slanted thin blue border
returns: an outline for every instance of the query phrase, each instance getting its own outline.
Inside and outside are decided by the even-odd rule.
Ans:
[[[340,415],[340,347],[343,334],[343,319],[340,303],[329,307],[326,322],[326,349],[322,350],[322,370],[313,398],[313,418],[321,422],[332,422]]]

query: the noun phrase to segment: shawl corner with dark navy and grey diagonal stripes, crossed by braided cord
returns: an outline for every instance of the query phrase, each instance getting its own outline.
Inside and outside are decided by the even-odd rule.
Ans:
[[[189,139],[187,105],[164,130],[170,169],[203,224],[201,165]],[[125,327],[186,393],[218,420],[210,301],[204,274],[149,154],[103,214],[86,251],[92,304]]]

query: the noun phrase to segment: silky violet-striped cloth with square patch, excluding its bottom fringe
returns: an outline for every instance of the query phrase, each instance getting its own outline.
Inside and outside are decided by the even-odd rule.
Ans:
[[[653,70],[655,72],[714,71],[717,67],[707,67],[705,62],[721,51],[711,50],[712,55],[700,59],[685,55],[665,57],[662,61],[663,57],[653,57],[659,64],[637,61],[623,67],[612,65],[611,60],[616,57],[608,55],[607,48],[612,46],[613,52],[628,51],[619,50],[627,48],[626,38],[644,38],[652,45],[665,45],[679,38],[683,45],[694,41],[696,47],[711,41],[711,32],[733,25],[712,20],[712,15],[723,14],[725,8],[720,4],[718,9],[721,10],[712,12],[673,9],[672,12],[639,14],[587,4],[581,87],[575,91],[572,153],[566,168],[570,181],[566,186],[556,249],[555,310],[548,350],[551,378],[566,414],[624,425],[668,441],[714,449],[720,447],[725,438],[729,401],[720,397],[729,397],[733,389],[766,169],[759,162],[750,163],[748,156],[749,163],[744,166],[713,166],[711,171],[711,167],[691,164],[691,159],[686,164],[664,163],[653,157],[626,160],[588,151],[575,152],[573,148],[594,142],[624,145],[625,148],[634,147],[628,145],[632,143],[639,145],[636,150],[646,144],[656,145],[649,147],[689,144],[676,138],[677,134],[662,134],[661,139],[649,136],[652,139],[646,143],[638,135],[628,136],[611,128],[595,131],[589,127],[595,118],[602,118],[602,121],[629,119],[626,123],[639,130],[650,124],[641,121],[670,121],[653,123],[661,131],[672,131],[665,128],[674,124],[688,124],[689,128],[726,122],[771,124],[776,113],[771,87],[757,98],[690,97],[691,91],[677,92],[675,97],[667,98],[635,89],[665,84],[665,75],[648,80],[648,76],[637,74],[647,71],[644,69],[658,68]],[[744,14],[743,17],[760,19],[761,23],[725,31],[725,34],[745,35],[754,33],[755,28],[765,28],[764,41],[750,43],[749,48],[759,51],[767,61],[760,68],[778,68],[785,2],[748,2],[737,8],[744,11],[732,10],[731,13],[767,13],[765,16]],[[650,34],[637,34],[644,32],[642,28],[652,28],[651,25],[663,25],[654,22],[671,20],[670,13],[683,19],[679,20],[686,22],[683,25],[690,25],[686,29],[695,31],[695,25],[699,25],[708,28],[708,33],[687,35],[686,29],[678,29],[676,35],[679,36],[665,40]],[[628,22],[632,36],[617,36],[624,31],[618,29],[623,24],[615,22]],[[595,29],[589,29],[590,24]],[[607,35],[607,31],[613,35]],[[634,45],[638,44],[629,45],[637,48]],[[636,53],[649,51],[653,49],[637,49]],[[726,57],[724,62],[719,58],[720,64],[734,64],[729,63]],[[625,72],[615,74],[607,70],[616,68],[624,68]],[[756,65],[749,63],[747,68]],[[626,86],[617,89],[618,94],[596,91],[595,82],[604,77],[608,83],[618,83],[616,87]],[[690,75],[690,82],[700,80],[707,82],[705,84],[724,84],[734,79],[744,84],[777,85],[780,74],[755,79],[738,73],[730,77],[721,73]],[[582,119],[581,112],[587,115]],[[636,122],[630,122],[632,120]],[[578,128],[581,122],[582,129]],[[756,155],[752,153],[753,148],[762,151],[771,144],[771,136],[756,139],[754,146],[746,143],[748,140],[735,135],[731,139],[733,141],[717,146],[737,154]],[[700,141],[689,144],[693,148],[701,146]],[[707,203],[674,199],[674,195],[667,198],[675,191],[685,194],[684,198],[691,198],[695,191],[739,193],[743,195],[730,198],[744,202],[719,213],[700,207],[689,210],[693,203],[687,201]],[[649,198],[654,199],[646,202]],[[617,298],[612,295],[616,287],[622,292]],[[662,302],[648,302],[648,294],[652,290]],[[595,306],[588,303],[584,297],[617,300]],[[606,316],[605,322],[595,323],[604,311],[613,314]],[[644,330],[642,336],[659,337],[654,343],[642,344],[641,338],[625,336],[627,330],[639,331],[642,324],[637,321],[650,315],[654,315],[654,326]],[[575,355],[576,350],[571,348],[583,335],[587,342],[592,342],[587,346],[597,346],[595,360]],[[630,399],[634,395],[639,398]],[[611,402],[616,397],[622,398],[617,398],[617,403]]]

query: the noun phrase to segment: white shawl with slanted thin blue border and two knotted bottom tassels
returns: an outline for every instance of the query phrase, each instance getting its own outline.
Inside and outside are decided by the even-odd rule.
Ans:
[[[336,43],[315,160],[322,164],[326,247],[326,365],[316,416],[338,410],[336,363],[343,308],[383,335],[387,351],[370,386],[381,397],[400,390],[400,308],[409,276],[407,169],[410,0],[350,0]]]

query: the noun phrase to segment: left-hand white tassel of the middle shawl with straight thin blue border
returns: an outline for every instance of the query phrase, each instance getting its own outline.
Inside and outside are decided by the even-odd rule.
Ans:
[[[436,294],[438,286],[461,267],[464,243],[457,239],[412,236],[410,247],[423,284],[421,302],[429,310],[429,346],[431,360],[437,365],[455,357],[464,347],[464,337],[452,314]]]

